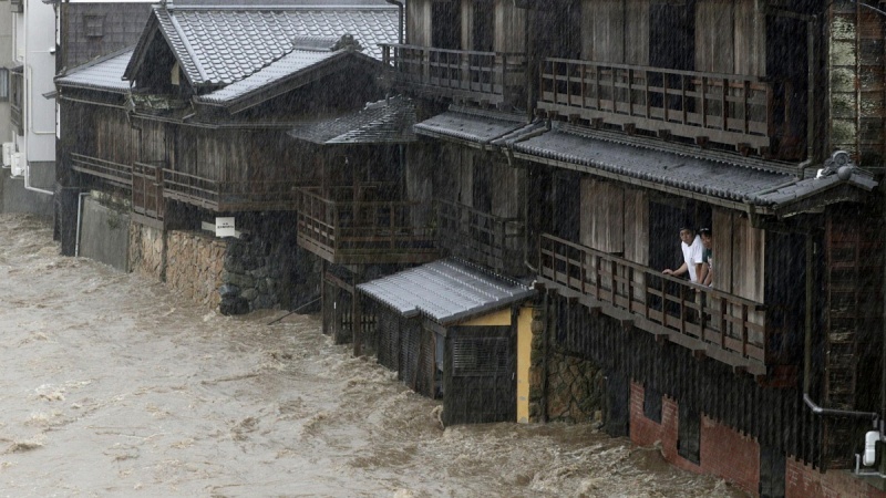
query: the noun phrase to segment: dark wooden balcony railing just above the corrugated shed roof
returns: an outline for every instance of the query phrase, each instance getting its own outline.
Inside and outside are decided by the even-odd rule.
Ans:
[[[437,200],[441,249],[509,276],[525,273],[523,243],[526,225],[459,203]]]

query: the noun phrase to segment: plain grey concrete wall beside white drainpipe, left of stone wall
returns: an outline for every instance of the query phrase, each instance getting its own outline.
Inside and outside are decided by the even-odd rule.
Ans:
[[[83,199],[79,256],[128,270],[130,216],[127,211]]]

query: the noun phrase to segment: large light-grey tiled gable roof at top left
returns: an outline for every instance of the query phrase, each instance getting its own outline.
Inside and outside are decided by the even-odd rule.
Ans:
[[[188,81],[225,85],[297,48],[301,38],[351,34],[363,53],[396,42],[395,7],[154,7],[154,15]]]

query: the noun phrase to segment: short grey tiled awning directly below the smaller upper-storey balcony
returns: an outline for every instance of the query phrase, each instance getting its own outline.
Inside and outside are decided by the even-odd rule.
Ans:
[[[487,145],[525,124],[525,120],[518,116],[451,108],[416,124],[414,128],[419,135]]]

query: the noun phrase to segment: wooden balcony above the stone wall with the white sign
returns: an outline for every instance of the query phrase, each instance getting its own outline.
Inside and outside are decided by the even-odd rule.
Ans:
[[[292,210],[296,181],[219,181],[163,170],[163,196],[216,211]]]

